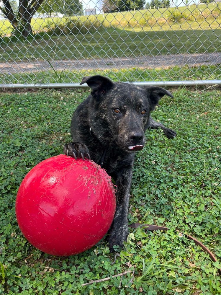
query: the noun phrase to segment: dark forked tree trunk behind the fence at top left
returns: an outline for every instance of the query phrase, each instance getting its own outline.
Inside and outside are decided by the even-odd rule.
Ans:
[[[10,3],[11,2],[11,3]],[[13,7],[12,1],[2,0],[0,5],[1,13],[4,14],[13,29],[24,37],[32,34],[31,19],[37,12],[43,0],[19,0],[18,9]]]

